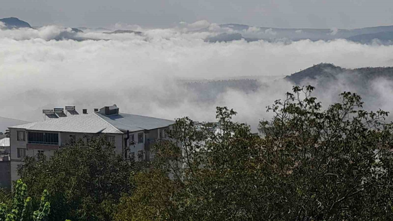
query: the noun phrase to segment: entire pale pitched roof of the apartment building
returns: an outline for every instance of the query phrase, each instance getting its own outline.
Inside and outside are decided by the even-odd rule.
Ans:
[[[40,122],[26,123],[9,128],[20,128],[31,131],[57,131],[72,133],[116,133],[123,134],[127,130],[142,131],[168,127],[174,121],[152,118],[136,114],[116,114],[106,116],[100,113],[73,115],[63,118],[49,118]]]

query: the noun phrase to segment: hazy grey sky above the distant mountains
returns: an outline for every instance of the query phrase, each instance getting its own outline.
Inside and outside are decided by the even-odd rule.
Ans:
[[[171,27],[208,20],[273,28],[363,28],[393,24],[391,0],[0,0],[0,17],[32,26]]]

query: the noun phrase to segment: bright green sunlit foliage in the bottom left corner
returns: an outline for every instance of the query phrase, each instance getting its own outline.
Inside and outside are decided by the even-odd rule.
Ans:
[[[50,203],[48,191],[44,190],[40,197],[39,209],[33,211],[31,197],[28,197],[27,185],[17,180],[14,187],[14,196],[10,204],[0,203],[0,220],[4,221],[44,221],[48,220]]]

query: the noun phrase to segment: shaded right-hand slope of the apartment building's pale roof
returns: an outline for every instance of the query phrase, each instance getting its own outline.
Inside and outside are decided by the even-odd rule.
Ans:
[[[174,123],[173,120],[166,120],[161,118],[152,118],[147,116],[141,116],[136,114],[115,114],[115,115],[104,115],[96,112],[97,116],[100,116],[103,120],[110,123],[120,131],[124,133],[128,131],[142,131],[152,130],[156,128],[168,127]]]

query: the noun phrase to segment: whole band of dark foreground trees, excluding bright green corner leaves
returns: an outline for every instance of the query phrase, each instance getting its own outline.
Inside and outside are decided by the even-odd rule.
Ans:
[[[268,107],[261,136],[218,107],[218,129],[176,120],[151,163],[97,138],[27,158],[20,173],[33,201],[48,190],[51,220],[390,220],[388,113],[363,110],[349,92],[323,109],[313,89]]]

